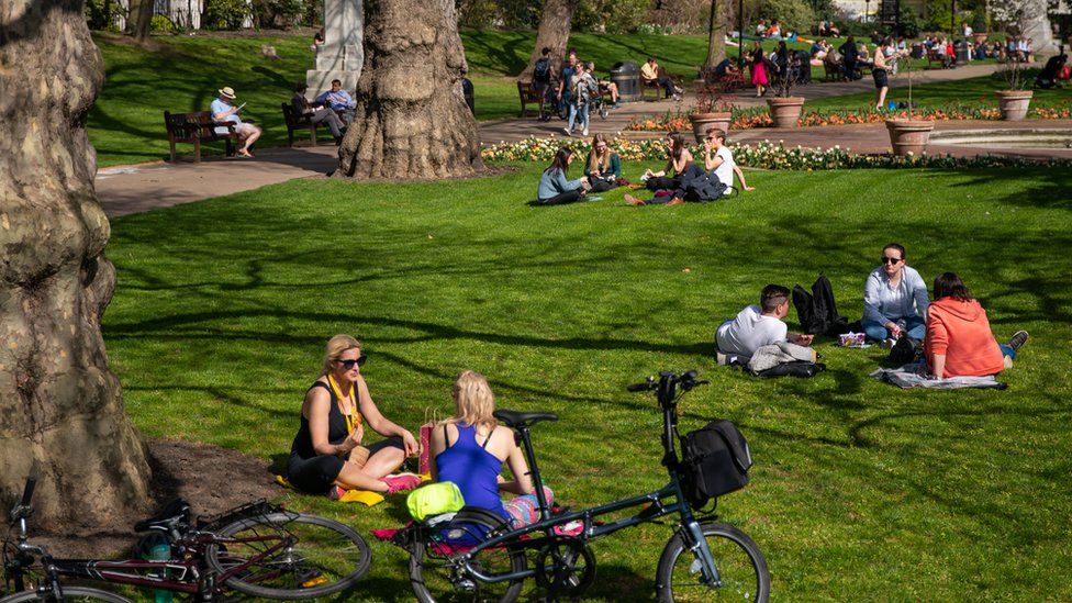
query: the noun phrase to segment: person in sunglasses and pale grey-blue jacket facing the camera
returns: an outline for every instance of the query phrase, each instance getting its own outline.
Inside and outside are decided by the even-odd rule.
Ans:
[[[882,248],[882,266],[863,286],[863,331],[868,337],[890,347],[902,335],[917,342],[927,334],[927,284],[905,265],[904,247],[891,243]]]

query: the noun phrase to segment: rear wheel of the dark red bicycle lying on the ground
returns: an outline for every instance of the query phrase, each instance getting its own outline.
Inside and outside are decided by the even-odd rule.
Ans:
[[[265,599],[337,593],[365,576],[372,561],[357,532],[316,515],[248,517],[224,526],[216,537],[222,541],[205,549],[209,567],[221,574],[242,567],[224,584]]]

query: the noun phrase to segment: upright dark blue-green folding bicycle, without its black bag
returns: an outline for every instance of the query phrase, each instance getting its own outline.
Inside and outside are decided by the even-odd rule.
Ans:
[[[410,583],[418,601],[462,598],[515,601],[524,581],[535,579],[548,600],[581,594],[595,578],[595,556],[589,540],[626,527],[677,514],[678,528],[659,559],[656,593],[660,602],[737,599],[766,602],[770,594],[767,561],[759,547],[736,527],[717,523],[714,510],[696,516],[682,489],[688,478],[678,458],[678,400],[704,384],[695,371],[680,377],[660,372],[629,391],[654,391],[662,410],[662,465],[670,481],[646,494],[582,511],[552,514],[541,488],[536,489],[539,521],[511,528],[499,515],[464,507],[414,523],[395,534],[395,545],[410,552]],[[554,413],[500,410],[495,417],[515,432],[524,448],[534,483],[541,483],[529,429]],[[601,523],[596,517],[643,506],[635,515]],[[695,510],[700,513],[700,510]],[[529,567],[529,557],[533,558]]]

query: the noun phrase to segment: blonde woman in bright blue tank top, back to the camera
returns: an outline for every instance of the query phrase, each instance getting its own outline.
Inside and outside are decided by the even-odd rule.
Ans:
[[[514,432],[493,416],[495,397],[483,375],[462,371],[454,383],[455,415],[432,432],[431,469],[434,481],[450,481],[461,491],[467,506],[479,506],[511,522],[516,528],[539,518],[525,455]],[[503,464],[514,479],[500,476]],[[505,504],[500,492],[517,494]],[[546,485],[547,504],[554,493]]]

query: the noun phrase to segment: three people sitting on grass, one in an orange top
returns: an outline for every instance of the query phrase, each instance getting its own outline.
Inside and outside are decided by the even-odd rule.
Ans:
[[[891,243],[882,249],[882,266],[867,278],[863,320],[867,336],[885,348],[907,339],[922,350],[928,375],[934,379],[985,377],[1012,368],[1017,349],[1027,339],[1017,331],[1007,344],[998,344],[990,328],[986,311],[971,297],[953,272],[935,279],[934,302],[915,269],[905,265],[905,249]],[[759,305],[749,305],[715,332],[718,353],[748,358],[763,347],[788,342],[812,344],[812,335],[788,332],[782,320],[789,314],[790,290],[768,284]]]

